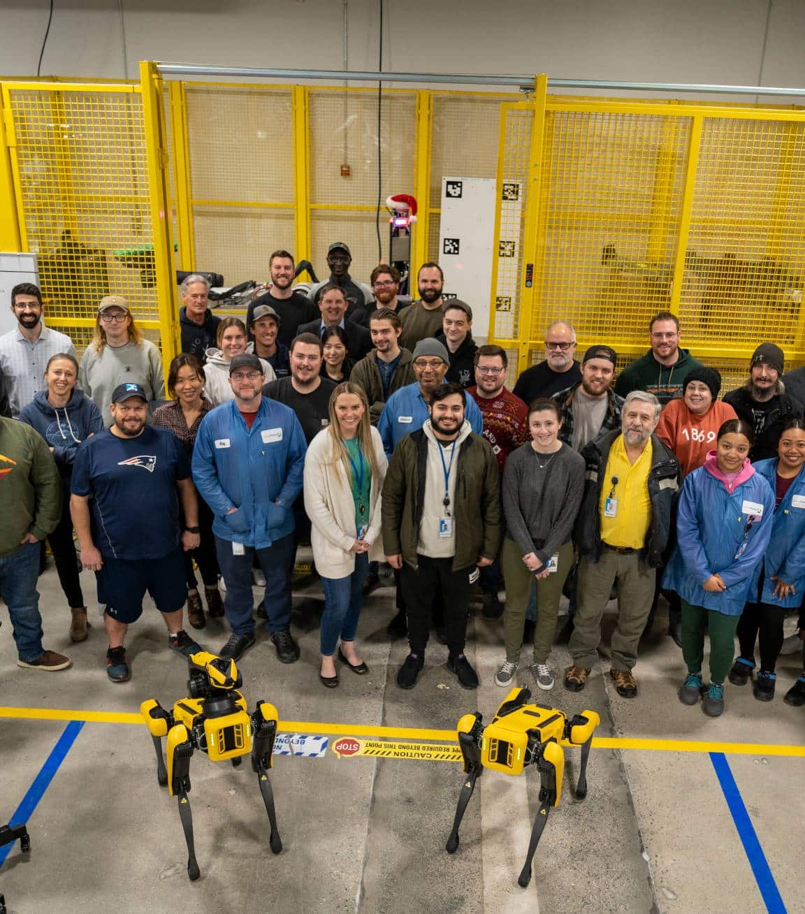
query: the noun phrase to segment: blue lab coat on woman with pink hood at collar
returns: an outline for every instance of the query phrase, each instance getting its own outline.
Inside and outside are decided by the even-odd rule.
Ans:
[[[740,615],[771,537],[774,501],[766,477],[757,472],[736,481],[731,493],[705,466],[689,473],[678,502],[677,544],[662,587],[692,606]],[[704,590],[704,581],[716,573],[726,590]]]

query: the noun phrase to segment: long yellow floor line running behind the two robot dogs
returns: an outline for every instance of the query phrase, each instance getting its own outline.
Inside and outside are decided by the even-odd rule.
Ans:
[[[143,725],[139,714],[115,711],[70,711],[49,707],[0,707],[0,717],[25,720],[83,720],[90,724]],[[436,739],[456,741],[455,730],[431,730],[416,727],[374,727],[371,724],[324,724],[303,720],[281,720],[285,733],[317,733],[350,737],[380,737],[386,739]],[[805,746],[784,746],[776,743],[707,742],[694,739],[631,739],[629,737],[596,737],[594,749],[642,749],[652,752],[724,752],[731,755],[770,755],[805,758]]]

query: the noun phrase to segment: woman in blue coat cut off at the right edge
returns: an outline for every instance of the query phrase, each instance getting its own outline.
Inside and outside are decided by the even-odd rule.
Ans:
[[[729,671],[733,685],[747,685],[755,670],[755,642],[759,641],[760,669],[753,693],[771,701],[777,676],[774,665],[783,643],[786,610],[802,601],[805,585],[805,420],[792,419],[783,427],[778,456],[758,461],[755,470],[776,495],[771,542],[755,569],[748,602],[738,622],[740,656]]]

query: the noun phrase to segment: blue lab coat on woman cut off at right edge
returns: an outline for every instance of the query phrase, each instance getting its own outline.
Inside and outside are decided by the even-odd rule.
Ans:
[[[778,462],[775,457],[755,464],[755,471],[766,479],[772,491],[777,484]],[[800,605],[805,593],[805,466],[794,477],[789,491],[774,512],[771,540],[766,555],[752,576],[747,594],[749,602],[757,599],[757,582],[761,572],[764,575],[762,602],[786,609]],[[774,576],[793,584],[794,593],[788,597],[773,596],[777,584],[776,580],[772,580]]]

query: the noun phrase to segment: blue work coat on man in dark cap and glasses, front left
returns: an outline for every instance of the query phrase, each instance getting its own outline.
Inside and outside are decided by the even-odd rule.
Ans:
[[[234,400],[211,409],[198,427],[193,481],[216,536],[257,549],[288,536],[306,451],[296,414],[275,400],[262,398],[251,429]]]

